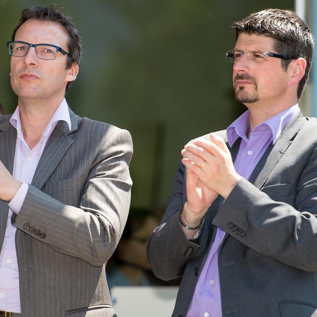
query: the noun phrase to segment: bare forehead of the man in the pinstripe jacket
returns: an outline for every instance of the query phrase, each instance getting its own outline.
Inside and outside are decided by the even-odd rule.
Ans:
[[[31,44],[45,43],[65,47],[68,42],[68,34],[59,23],[30,19],[17,30],[14,41],[24,41]]]

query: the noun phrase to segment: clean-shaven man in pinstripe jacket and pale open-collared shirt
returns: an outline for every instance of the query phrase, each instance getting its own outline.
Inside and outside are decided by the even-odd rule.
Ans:
[[[130,205],[130,134],[64,99],[82,42],[55,7],[24,9],[0,117],[0,316],[114,317],[105,263]]]

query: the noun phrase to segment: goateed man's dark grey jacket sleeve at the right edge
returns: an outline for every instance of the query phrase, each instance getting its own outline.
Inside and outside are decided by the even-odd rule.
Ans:
[[[298,182],[275,183],[262,190],[242,178],[213,224],[260,254],[317,271],[316,149],[304,166]],[[288,173],[296,168],[290,166]]]

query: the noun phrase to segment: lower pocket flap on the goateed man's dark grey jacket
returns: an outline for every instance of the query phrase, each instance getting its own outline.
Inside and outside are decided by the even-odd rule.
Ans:
[[[278,303],[281,317],[317,317],[317,307],[298,301],[282,301]]]

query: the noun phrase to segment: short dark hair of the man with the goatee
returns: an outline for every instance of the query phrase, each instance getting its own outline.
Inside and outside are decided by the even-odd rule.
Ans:
[[[240,33],[265,35],[275,40],[274,49],[277,53],[306,59],[305,75],[297,89],[297,97],[300,98],[309,77],[314,53],[314,39],[308,25],[293,11],[266,9],[234,22],[231,27],[236,31],[236,39]],[[282,59],[282,67],[286,70],[290,62],[291,59]]]

